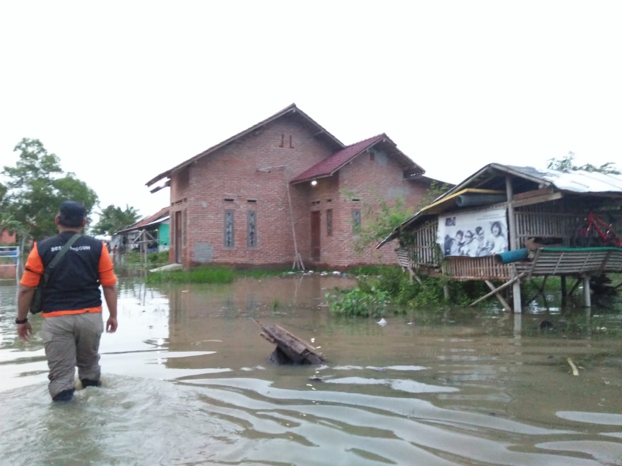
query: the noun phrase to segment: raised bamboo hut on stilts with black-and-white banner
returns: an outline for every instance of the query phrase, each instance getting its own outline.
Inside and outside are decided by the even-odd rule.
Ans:
[[[519,285],[531,276],[561,276],[562,297],[582,283],[590,306],[590,278],[622,272],[621,230],[622,175],[491,163],[396,227],[378,248],[399,239],[398,262],[413,278],[485,281],[491,292],[475,303],[496,295],[511,310],[499,291],[512,286],[520,312]],[[566,277],[575,280],[569,290]]]

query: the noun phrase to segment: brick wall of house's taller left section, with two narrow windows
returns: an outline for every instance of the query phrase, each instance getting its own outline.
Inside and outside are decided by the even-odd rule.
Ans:
[[[190,165],[187,189],[177,188],[178,178],[173,176],[172,204],[187,199],[179,208],[172,206],[173,212],[182,208],[188,212],[188,247],[183,265],[206,259],[231,264],[292,263],[294,240],[287,182],[332,152],[309,129],[283,117]],[[290,188],[294,219],[301,223],[305,220],[300,212],[302,196],[304,193]],[[233,211],[233,247],[224,244],[226,210]],[[249,211],[256,212],[255,247],[247,244]],[[174,226],[172,231],[174,235]],[[172,245],[170,257],[174,258],[174,241]],[[299,246],[307,248],[300,241]]]

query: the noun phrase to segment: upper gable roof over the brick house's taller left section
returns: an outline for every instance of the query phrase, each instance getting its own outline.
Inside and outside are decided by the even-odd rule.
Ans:
[[[196,160],[198,160],[199,158],[205,157],[206,155],[210,155],[210,153],[215,152],[216,150],[220,149],[221,147],[225,147],[226,145],[231,144],[232,142],[240,139],[241,137],[244,137],[247,134],[251,134],[252,132],[261,129],[261,127],[266,126],[267,124],[281,118],[284,117],[286,115],[295,115],[297,117],[299,117],[301,119],[301,121],[306,124],[307,126],[310,126],[313,130],[315,130],[315,136],[320,136],[322,135],[329,144],[333,145],[335,148],[343,148],[344,144],[343,142],[341,142],[340,140],[338,140],[335,136],[333,136],[332,134],[330,134],[327,130],[325,130],[322,126],[320,126],[320,124],[318,124],[318,122],[316,122],[315,120],[313,120],[309,115],[307,115],[305,112],[303,112],[302,110],[300,110],[296,104],[291,104],[287,107],[285,107],[284,109],[282,109],[281,111],[276,112],[274,115],[267,117],[265,120],[260,121],[257,124],[254,124],[253,126],[239,132],[236,135],[231,136],[229,139],[225,139],[222,142],[219,142],[216,145],[213,145],[212,147],[204,150],[201,153],[198,153],[197,155],[195,155],[192,158],[188,158],[188,160],[185,160],[185,162],[180,163],[179,165],[175,165],[175,167],[173,168],[169,168],[169,170],[166,171],[162,171],[162,173],[160,173],[159,175],[154,176],[154,178],[151,178],[151,180],[147,181],[147,183],[145,183],[147,186],[151,186],[154,183],[156,183],[157,181],[162,180],[162,178],[170,178],[170,175],[172,175],[172,173],[174,173],[174,171],[180,170],[184,167],[187,167],[188,165],[190,165],[191,163],[195,162]],[[159,188],[156,188],[154,190],[152,190],[151,192],[154,193],[158,190]]]

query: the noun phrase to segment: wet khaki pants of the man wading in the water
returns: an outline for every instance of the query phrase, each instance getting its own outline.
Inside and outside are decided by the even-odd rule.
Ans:
[[[104,331],[101,313],[70,314],[43,319],[43,342],[50,373],[52,398],[75,388],[78,378],[100,380],[100,338]]]

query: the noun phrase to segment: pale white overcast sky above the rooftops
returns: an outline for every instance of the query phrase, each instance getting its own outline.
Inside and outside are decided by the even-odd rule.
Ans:
[[[345,144],[386,132],[456,183],[487,163],[622,166],[615,1],[0,3],[0,165],[22,137],[108,204],[295,103]]]

